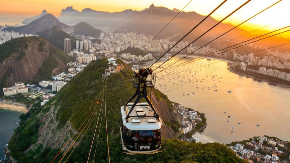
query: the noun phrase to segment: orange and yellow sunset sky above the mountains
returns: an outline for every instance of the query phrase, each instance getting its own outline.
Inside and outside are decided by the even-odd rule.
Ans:
[[[228,0],[212,15],[212,17],[220,20],[245,1],[246,0]],[[252,0],[224,22],[238,24],[277,1],[278,0]],[[2,15],[0,19],[2,20],[0,20],[0,24],[3,25],[3,22],[11,24],[9,20],[17,17],[19,17],[19,19],[21,17],[24,19],[38,15],[43,9],[58,17],[61,10],[67,6],[73,6],[73,8],[78,11],[84,8],[91,8],[98,11],[120,12],[126,9],[140,11],[144,8],[148,8],[153,3],[155,6],[164,6],[169,9],[177,8],[181,10],[188,2],[189,0],[2,0],[0,5],[0,14]],[[192,0],[184,11],[195,11],[199,14],[207,15],[221,2],[222,0]],[[289,6],[289,0],[282,0],[272,8],[249,21],[244,27],[247,26],[248,29],[256,29],[271,24],[265,29],[273,30],[290,25]]]

